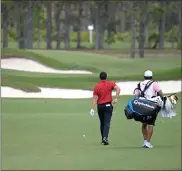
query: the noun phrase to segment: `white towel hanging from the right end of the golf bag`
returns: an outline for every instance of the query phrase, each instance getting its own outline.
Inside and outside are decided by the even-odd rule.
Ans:
[[[149,100],[157,103],[161,107],[160,113],[161,113],[162,117],[172,118],[173,116],[176,116],[174,107],[168,98],[166,99],[165,106],[164,106],[164,103],[160,96],[151,98]]]

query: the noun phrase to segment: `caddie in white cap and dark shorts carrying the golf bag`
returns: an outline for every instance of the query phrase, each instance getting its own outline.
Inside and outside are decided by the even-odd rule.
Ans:
[[[144,73],[144,81],[140,82],[137,85],[137,88],[134,90],[134,94],[137,97],[145,97],[146,99],[151,99],[152,97],[161,96],[163,98],[163,92],[156,81],[152,81],[153,73],[150,70],[145,71]],[[145,90],[144,94],[142,95],[142,91],[145,89],[146,85],[149,83],[150,86]],[[153,134],[153,126],[155,126],[155,120],[157,118],[157,114],[154,114],[154,116],[147,120],[147,123],[142,123],[142,134],[144,138],[144,144],[143,147],[145,148],[152,148],[152,144],[150,143],[150,140],[152,138]]]

